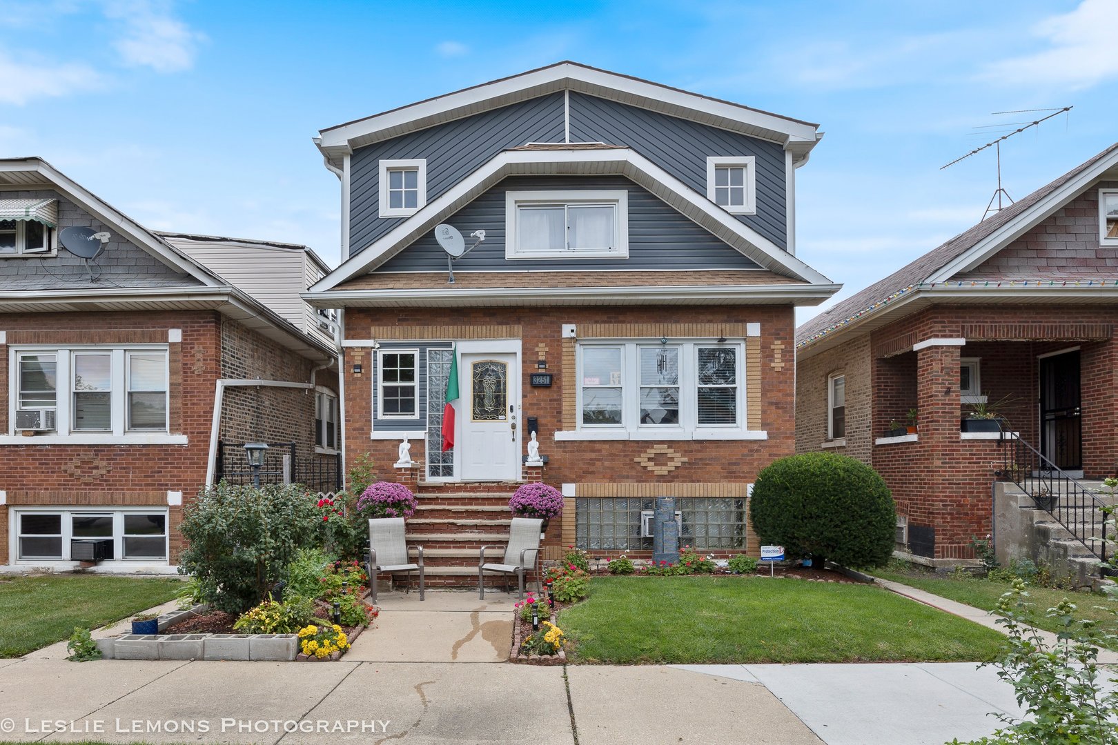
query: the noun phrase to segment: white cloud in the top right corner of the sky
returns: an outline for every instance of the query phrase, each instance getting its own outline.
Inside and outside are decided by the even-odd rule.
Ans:
[[[1069,13],[1050,16],[1036,23],[1033,35],[1050,48],[987,65],[982,77],[1024,86],[1089,88],[1118,77],[1115,54],[1114,0],[1083,0]]]

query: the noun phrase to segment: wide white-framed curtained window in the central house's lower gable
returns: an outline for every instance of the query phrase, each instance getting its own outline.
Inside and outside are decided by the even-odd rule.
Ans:
[[[505,258],[628,256],[628,192],[510,191]]]

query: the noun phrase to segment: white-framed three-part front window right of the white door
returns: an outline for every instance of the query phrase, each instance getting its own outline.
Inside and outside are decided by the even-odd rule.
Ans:
[[[745,429],[743,344],[683,341],[579,345],[579,429],[655,432]]]

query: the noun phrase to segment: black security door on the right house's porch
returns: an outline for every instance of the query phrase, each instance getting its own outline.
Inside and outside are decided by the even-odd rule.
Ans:
[[[1041,359],[1041,452],[1057,468],[1083,467],[1079,352]]]

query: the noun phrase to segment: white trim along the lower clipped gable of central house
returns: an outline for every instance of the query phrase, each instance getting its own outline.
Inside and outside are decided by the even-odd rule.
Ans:
[[[588,163],[597,168],[586,169]],[[550,165],[543,171],[541,166]],[[582,166],[582,168],[580,168]],[[742,223],[704,195],[684,184],[662,168],[629,149],[613,150],[506,150],[399,223],[388,233],[350,257],[311,287],[312,293],[328,290],[359,274],[376,269],[432,230],[443,218],[453,214],[508,175],[532,173],[619,173],[644,187],[683,216],[710,230],[761,267],[789,275],[813,285],[831,280],[792,254],[779,248]]]

